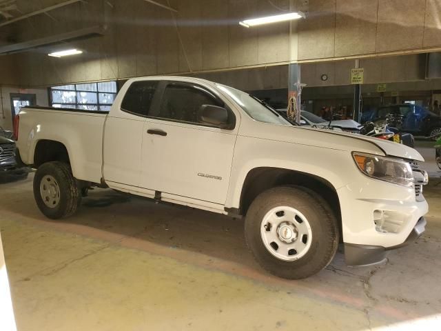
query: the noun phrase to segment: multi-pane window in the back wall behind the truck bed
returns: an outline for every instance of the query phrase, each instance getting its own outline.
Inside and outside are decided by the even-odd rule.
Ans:
[[[108,111],[116,97],[116,81],[54,86],[50,94],[52,107]]]

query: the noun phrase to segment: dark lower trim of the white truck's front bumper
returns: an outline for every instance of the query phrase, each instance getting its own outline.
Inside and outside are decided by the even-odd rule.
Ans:
[[[386,259],[387,251],[401,248],[409,243],[414,243],[424,232],[427,225],[426,219],[421,217],[418,219],[409,237],[403,242],[395,246],[382,247],[376,245],[358,245],[353,243],[345,243],[345,261],[347,265],[362,266],[381,263]]]

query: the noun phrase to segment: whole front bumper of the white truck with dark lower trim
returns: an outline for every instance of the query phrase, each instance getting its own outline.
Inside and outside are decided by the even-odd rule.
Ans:
[[[424,231],[429,205],[419,181],[407,188],[365,176],[352,178],[337,190],[348,265],[378,263],[387,250],[414,241]]]

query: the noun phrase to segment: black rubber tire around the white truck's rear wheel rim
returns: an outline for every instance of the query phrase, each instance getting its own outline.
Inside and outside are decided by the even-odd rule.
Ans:
[[[40,183],[45,175],[54,177],[59,185],[59,203],[54,208],[45,205],[41,197]],[[76,184],[70,166],[59,161],[40,165],[34,176],[34,199],[39,210],[50,219],[61,219],[74,214],[81,203],[81,190]]]

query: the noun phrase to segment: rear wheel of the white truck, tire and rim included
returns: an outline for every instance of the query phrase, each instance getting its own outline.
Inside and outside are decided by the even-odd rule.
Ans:
[[[50,219],[69,217],[81,203],[81,190],[70,166],[59,161],[41,165],[34,176],[34,198]]]

